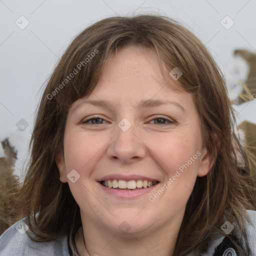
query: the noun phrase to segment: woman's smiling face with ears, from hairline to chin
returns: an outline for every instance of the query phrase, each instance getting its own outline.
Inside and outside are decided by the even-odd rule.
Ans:
[[[179,225],[210,168],[192,95],[168,88],[155,53],[135,46],[113,54],[93,93],[71,105],[56,162],[83,223],[115,234]]]

